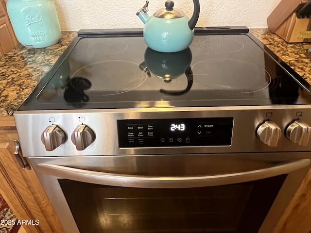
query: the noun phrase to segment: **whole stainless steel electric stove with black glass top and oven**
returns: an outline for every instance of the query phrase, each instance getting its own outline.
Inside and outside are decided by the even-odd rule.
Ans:
[[[142,35],[80,31],[14,114],[65,232],[272,233],[310,169],[310,84],[246,27]]]

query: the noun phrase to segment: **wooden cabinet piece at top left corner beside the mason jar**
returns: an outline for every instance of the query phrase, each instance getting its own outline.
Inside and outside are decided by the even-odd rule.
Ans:
[[[6,12],[6,1],[0,0],[0,57],[17,45],[18,41]]]

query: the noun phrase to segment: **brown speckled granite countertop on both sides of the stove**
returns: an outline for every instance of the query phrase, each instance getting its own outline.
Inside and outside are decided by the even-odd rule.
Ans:
[[[250,31],[311,83],[311,43],[288,44],[267,29]],[[28,50],[19,45],[0,58],[0,116],[13,116],[76,35],[62,32],[59,43],[43,49]]]

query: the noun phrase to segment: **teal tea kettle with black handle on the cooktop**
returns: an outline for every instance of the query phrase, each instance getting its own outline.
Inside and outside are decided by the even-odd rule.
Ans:
[[[194,27],[200,15],[199,0],[193,0],[193,15],[189,19],[182,11],[174,8],[174,2],[165,2],[165,8],[147,14],[149,1],[137,12],[145,24],[143,36],[149,48],[159,52],[178,52],[185,50],[194,37]]]

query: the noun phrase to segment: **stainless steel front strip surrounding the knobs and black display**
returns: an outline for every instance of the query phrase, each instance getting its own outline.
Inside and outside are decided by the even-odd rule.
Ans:
[[[289,152],[311,151],[311,143],[306,147],[293,143],[282,133],[277,147],[262,143],[256,131],[263,122],[276,122],[282,132],[288,125],[299,119],[311,125],[311,105],[293,106],[236,106],[236,107],[190,107],[190,108],[148,108],[148,109],[91,109],[91,110],[55,110],[55,111],[17,111],[14,115],[20,145],[25,157],[52,156],[102,156],[102,155],[144,155],[144,154],[194,154],[194,153],[251,153],[251,152]],[[242,114],[241,114],[241,110]],[[302,116],[300,116],[302,115]],[[96,134],[94,142],[86,150],[78,151],[68,140],[53,151],[46,151],[40,141],[41,133],[54,124],[71,133],[81,124],[83,117]],[[156,148],[120,148],[118,144],[117,120],[122,119],[161,119],[161,118],[208,118],[233,117],[234,127],[230,147],[156,147]],[[29,122],[36,122],[32,127]],[[103,143],[104,142],[104,143]],[[245,143],[247,142],[247,143]]]

